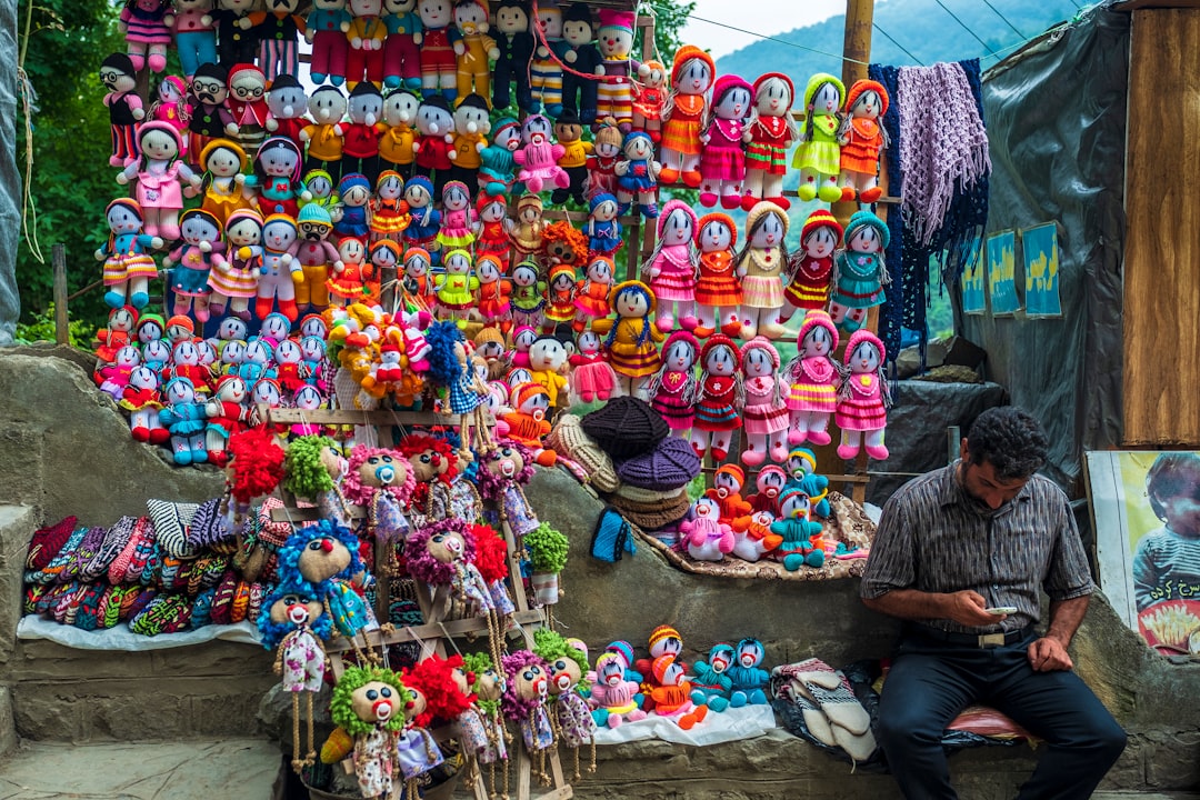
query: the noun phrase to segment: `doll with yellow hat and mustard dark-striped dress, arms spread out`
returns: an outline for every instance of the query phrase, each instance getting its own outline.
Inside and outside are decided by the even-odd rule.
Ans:
[[[592,330],[605,338],[608,362],[626,395],[649,399],[649,381],[661,366],[656,343],[665,337],[650,323],[654,293],[641,281],[625,281],[612,288],[608,305],[617,319],[596,319]]]

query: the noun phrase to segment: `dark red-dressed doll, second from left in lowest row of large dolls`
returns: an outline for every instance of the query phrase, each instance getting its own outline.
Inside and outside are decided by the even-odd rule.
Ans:
[[[742,427],[738,347],[724,333],[712,336],[700,350],[700,367],[691,446],[701,458],[712,451],[713,459],[722,462],[728,456],[733,432]]]

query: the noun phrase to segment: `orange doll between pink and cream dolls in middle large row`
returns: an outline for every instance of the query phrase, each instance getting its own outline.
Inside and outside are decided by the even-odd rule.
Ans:
[[[696,279],[696,315],[698,325],[692,331],[697,338],[708,338],[718,330],[737,336],[742,330],[742,287],[733,272],[733,246],[738,229],[728,215],[706,213],[696,223],[698,277]]]

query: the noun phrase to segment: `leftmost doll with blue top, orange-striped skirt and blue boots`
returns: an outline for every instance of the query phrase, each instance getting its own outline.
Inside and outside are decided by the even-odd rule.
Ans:
[[[163,240],[143,231],[142,206],[136,200],[113,200],[104,218],[108,245],[96,251],[96,260],[104,263],[104,302],[114,309],[144,308],[150,302],[150,278],[158,275],[149,251],[162,247]]]

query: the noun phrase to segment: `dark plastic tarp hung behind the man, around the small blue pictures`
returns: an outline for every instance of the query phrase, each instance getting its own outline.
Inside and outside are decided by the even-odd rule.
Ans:
[[[988,231],[1055,222],[1061,319],[964,317],[989,380],[1046,427],[1046,474],[1081,493],[1085,450],[1121,439],[1121,288],[1129,14],[1094,8],[984,76]],[[1018,291],[1024,291],[1018,252]]]

